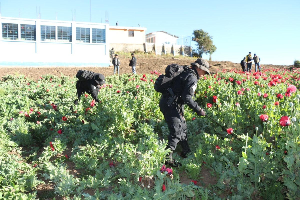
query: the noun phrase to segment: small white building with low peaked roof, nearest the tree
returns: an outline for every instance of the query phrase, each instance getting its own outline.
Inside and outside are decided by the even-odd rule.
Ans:
[[[179,37],[165,31],[157,31],[146,35],[146,42],[158,44],[176,44]]]

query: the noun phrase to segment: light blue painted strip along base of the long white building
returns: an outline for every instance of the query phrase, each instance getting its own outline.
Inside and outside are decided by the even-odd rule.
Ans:
[[[0,62],[0,66],[41,67],[108,67],[110,63],[68,63],[68,62]]]

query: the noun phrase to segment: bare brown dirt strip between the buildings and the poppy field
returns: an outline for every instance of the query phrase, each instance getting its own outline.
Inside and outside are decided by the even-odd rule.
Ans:
[[[128,66],[131,60],[130,55],[119,55],[120,58],[120,74],[131,73],[131,67]],[[168,64],[176,63],[180,65],[189,65],[195,59],[190,57],[176,57],[171,56],[155,56],[155,55],[143,55],[137,54],[137,67],[136,71],[139,74],[150,73],[151,71],[158,71],[159,73],[164,73],[165,68]],[[232,63],[230,61],[208,61],[210,65],[221,64],[219,66],[214,66],[210,68],[210,71],[215,73],[217,69],[230,70],[230,69],[241,69],[239,63]],[[273,67],[273,68],[288,68],[290,66],[280,66],[280,65],[265,65],[262,64],[263,68]],[[37,80],[40,76],[44,74],[50,74],[60,77],[61,74],[64,76],[75,76],[79,69],[91,70],[97,73],[103,73],[104,76],[109,76],[113,74],[113,66],[110,67],[1,67],[0,66],[0,77],[5,75],[25,75],[27,78]],[[252,69],[254,71],[254,64],[252,64]]]

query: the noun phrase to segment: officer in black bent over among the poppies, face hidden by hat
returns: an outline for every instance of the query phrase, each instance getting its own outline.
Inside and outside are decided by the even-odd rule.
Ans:
[[[93,99],[95,99],[96,102],[99,102],[97,96],[98,91],[100,88],[100,85],[103,85],[105,83],[105,77],[103,74],[95,73],[95,75],[87,81],[77,81],[76,82],[76,89],[77,89],[77,97],[74,101],[75,105],[78,105],[78,101],[80,101],[80,96],[84,94],[85,92],[90,94]]]

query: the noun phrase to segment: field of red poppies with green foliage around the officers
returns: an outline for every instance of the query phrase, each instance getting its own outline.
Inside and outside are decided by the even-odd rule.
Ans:
[[[75,76],[2,77],[0,199],[299,199],[299,69],[200,78],[209,117],[185,107],[191,153],[177,147],[178,168],[164,166],[158,75],[109,76],[100,103],[77,106]]]

